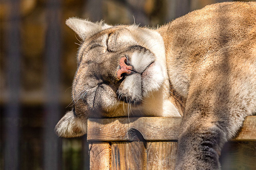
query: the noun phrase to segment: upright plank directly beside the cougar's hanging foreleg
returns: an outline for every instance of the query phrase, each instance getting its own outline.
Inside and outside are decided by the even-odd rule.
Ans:
[[[147,142],[147,170],[174,170],[177,142]]]

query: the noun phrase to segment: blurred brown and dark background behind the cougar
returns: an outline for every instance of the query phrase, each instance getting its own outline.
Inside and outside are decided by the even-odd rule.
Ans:
[[[1,0],[0,169],[89,169],[86,136],[57,137],[54,127],[71,108],[80,43],[65,25],[72,16],[108,24],[157,26],[218,0]],[[134,18],[133,18],[134,17]],[[223,169],[255,164],[255,143],[229,142]],[[229,155],[241,150],[237,165]],[[253,157],[252,157],[253,156]]]

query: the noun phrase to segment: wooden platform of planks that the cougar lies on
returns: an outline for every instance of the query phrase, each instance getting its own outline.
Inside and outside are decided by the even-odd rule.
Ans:
[[[90,169],[174,169],[181,119],[181,117],[88,119]],[[228,161],[227,166],[229,167],[230,164],[238,169],[255,168],[256,116],[248,116],[245,119],[243,127],[232,141],[246,141],[251,147],[246,150],[241,149],[245,145],[239,145],[239,151],[232,152],[231,155],[225,153],[227,158],[223,159]],[[248,156],[248,152],[252,153]],[[246,159],[241,162],[240,159],[244,157]],[[234,160],[235,158],[239,160]],[[234,164],[233,161],[236,163]],[[236,167],[237,163],[242,167]]]

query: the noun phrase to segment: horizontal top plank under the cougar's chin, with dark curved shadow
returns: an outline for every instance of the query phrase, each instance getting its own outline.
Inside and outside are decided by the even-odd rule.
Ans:
[[[130,121],[129,121],[130,120]],[[88,119],[88,141],[177,140],[182,117]],[[233,140],[256,140],[256,116],[247,116]]]

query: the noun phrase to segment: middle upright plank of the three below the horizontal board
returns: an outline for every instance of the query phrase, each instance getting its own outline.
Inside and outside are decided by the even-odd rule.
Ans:
[[[113,142],[112,170],[146,169],[144,142]]]

